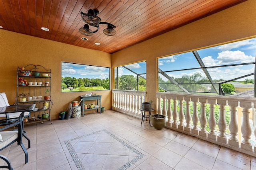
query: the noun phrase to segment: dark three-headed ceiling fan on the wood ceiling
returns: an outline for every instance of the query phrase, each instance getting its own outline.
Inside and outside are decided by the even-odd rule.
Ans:
[[[108,27],[103,30],[103,33],[105,35],[108,35],[108,36],[116,35],[116,30],[114,30],[114,28],[116,28],[116,26],[111,23],[108,23],[108,22],[102,22],[100,17],[97,16],[99,14],[98,10],[90,9],[90,10],[88,10],[88,14],[85,14],[83,12],[81,12],[80,14],[82,16],[82,20],[84,20],[84,22],[86,23],[86,24],[84,24],[84,27],[79,28],[79,32],[82,35],[91,36],[93,33],[96,33],[98,31],[98,29],[100,28],[99,24],[108,25]],[[89,28],[89,25],[96,27],[97,28],[96,31],[92,31]]]

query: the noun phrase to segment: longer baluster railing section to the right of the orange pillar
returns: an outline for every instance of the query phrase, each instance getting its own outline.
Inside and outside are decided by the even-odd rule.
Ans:
[[[250,111],[256,108],[256,98],[165,92],[157,92],[156,98],[157,113],[165,113],[167,109],[166,128],[256,156],[256,142],[255,139],[251,140],[251,136],[255,138],[252,133],[256,135],[256,127],[252,130],[249,118]],[[166,100],[168,104],[165,104]],[[185,104],[186,107],[183,108]],[[170,109],[172,106],[173,110]],[[242,113],[238,113],[238,107],[242,107]],[[226,122],[229,112],[230,120]],[[218,120],[216,114],[219,114]],[[238,124],[238,119],[242,120],[241,125]]]

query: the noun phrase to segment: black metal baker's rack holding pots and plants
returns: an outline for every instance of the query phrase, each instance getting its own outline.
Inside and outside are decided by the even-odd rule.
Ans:
[[[16,104],[36,104],[25,124],[51,121],[51,70],[29,64],[17,69]]]

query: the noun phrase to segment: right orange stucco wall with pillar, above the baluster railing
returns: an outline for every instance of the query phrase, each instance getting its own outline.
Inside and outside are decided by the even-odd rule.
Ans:
[[[256,37],[255,16],[256,1],[243,2],[114,53],[112,54],[112,67],[146,61],[146,96],[147,100],[156,101],[159,57],[220,45],[238,39]],[[113,80],[112,78],[112,82]],[[156,105],[156,102],[154,102],[154,105]],[[156,106],[153,107],[156,108]]]

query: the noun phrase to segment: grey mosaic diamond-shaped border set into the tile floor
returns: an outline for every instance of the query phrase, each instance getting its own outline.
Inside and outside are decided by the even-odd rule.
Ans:
[[[92,135],[92,134],[95,134],[95,133],[100,133],[102,131],[104,131],[105,133],[110,135],[112,138],[116,139],[118,142],[120,142],[122,145],[124,145],[128,149],[132,150],[134,153],[138,154],[138,156],[136,158],[130,160],[129,162],[127,162],[126,164],[124,164],[123,166],[118,168],[118,170],[126,170],[127,168],[129,168],[130,166],[132,166],[133,164],[135,164],[136,162],[138,162],[141,158],[143,158],[145,156],[144,154],[142,154],[138,150],[134,149],[133,147],[131,147],[130,145],[128,145],[127,143],[125,143],[124,141],[122,141],[121,139],[116,137],[114,134],[110,133],[106,129],[103,129],[103,130],[100,130],[100,131],[96,131],[96,132],[93,132],[93,133],[90,133],[90,134],[87,134],[87,135],[83,135],[83,136],[76,137],[74,139],[70,139],[68,141],[65,141],[65,144],[68,148],[68,151],[69,151],[70,155],[72,156],[78,170],[85,170],[85,168],[82,165],[82,162],[80,161],[80,159],[78,158],[78,156],[77,156],[75,150],[73,149],[72,145],[70,144],[70,141],[75,141],[75,140],[80,139],[82,137],[86,137],[86,136],[89,136],[89,135]]]

